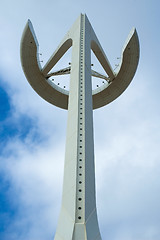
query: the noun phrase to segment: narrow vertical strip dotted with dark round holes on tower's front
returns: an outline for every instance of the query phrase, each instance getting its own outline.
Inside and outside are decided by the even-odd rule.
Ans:
[[[85,222],[85,165],[84,165],[84,16],[81,16],[79,45],[79,104],[78,104],[78,157],[76,187],[76,223]]]

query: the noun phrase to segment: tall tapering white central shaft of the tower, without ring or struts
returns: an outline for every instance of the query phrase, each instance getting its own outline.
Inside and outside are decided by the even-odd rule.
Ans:
[[[55,240],[101,239],[95,199],[89,22],[73,26],[62,207]],[[87,34],[86,34],[87,32]]]

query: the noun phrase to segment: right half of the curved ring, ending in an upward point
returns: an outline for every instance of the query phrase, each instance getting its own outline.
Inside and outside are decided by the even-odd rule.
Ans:
[[[136,29],[132,29],[123,47],[120,70],[108,85],[94,90],[93,109],[105,106],[119,97],[128,87],[137,69],[139,61],[139,40]]]

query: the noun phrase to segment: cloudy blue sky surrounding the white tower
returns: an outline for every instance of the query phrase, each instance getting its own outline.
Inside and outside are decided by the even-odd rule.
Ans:
[[[160,239],[159,0],[5,0],[0,2],[1,240],[54,239],[67,111],[44,101],[27,82],[20,40],[30,19],[44,65],[81,12],[87,14],[113,69],[133,26],[140,41],[132,83],[114,102],[94,111],[102,239]],[[55,70],[69,61],[70,52]],[[103,72],[92,61],[94,70]]]

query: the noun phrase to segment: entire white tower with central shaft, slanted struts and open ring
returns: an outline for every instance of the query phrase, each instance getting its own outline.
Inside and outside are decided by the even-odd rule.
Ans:
[[[72,47],[71,67],[50,73]],[[93,109],[116,99],[131,82],[139,60],[139,42],[133,29],[122,51],[115,74],[86,15],[81,14],[49,61],[42,68],[37,57],[38,42],[30,21],[21,41],[21,62],[26,78],[46,101],[68,109],[62,206],[55,240],[101,239],[95,198]],[[106,76],[91,70],[91,50]],[[70,90],[50,81],[53,75],[70,73]],[[92,91],[91,76],[105,79]]]

